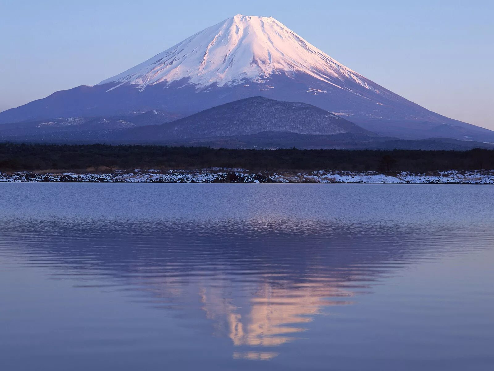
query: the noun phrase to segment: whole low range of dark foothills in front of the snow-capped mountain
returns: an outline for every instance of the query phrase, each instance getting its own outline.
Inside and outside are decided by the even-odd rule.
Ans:
[[[130,118],[131,123],[116,118],[113,120],[93,118],[86,124],[59,128],[47,125],[47,128],[41,129],[38,124],[36,128],[24,134],[19,134],[19,131],[15,132],[15,129],[0,130],[0,140],[79,144],[148,143],[257,149],[294,146],[301,149],[467,150],[494,148],[492,144],[473,140],[447,138],[407,140],[382,137],[310,104],[280,102],[260,96],[225,103],[162,125],[138,127],[135,123],[144,120],[142,117],[152,118],[159,116],[159,113],[151,111],[139,118],[140,116]],[[78,121],[75,118],[58,120],[61,123]],[[101,129],[94,124],[105,121],[106,123],[100,124]],[[132,126],[116,126],[120,121]],[[149,122],[149,120],[144,121]],[[11,124],[3,126],[5,125]]]

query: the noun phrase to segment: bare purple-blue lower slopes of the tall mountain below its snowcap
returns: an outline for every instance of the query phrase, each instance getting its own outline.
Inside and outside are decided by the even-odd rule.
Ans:
[[[357,96],[360,101],[354,102],[347,100],[347,98],[354,98],[355,94],[334,87],[322,87],[320,86],[321,82],[314,81],[315,79],[310,77],[307,79],[310,80],[310,83],[301,84],[293,79],[284,80],[282,76],[272,76],[266,79],[269,83],[250,82],[249,86],[246,87],[218,87],[207,92],[196,91],[194,87],[187,85],[178,89],[186,83],[182,81],[170,83],[167,89],[148,86],[142,92],[135,87],[124,89],[122,86],[106,93],[115,85],[111,83],[94,87],[81,86],[69,91],[53,93],[44,99],[1,112],[0,123],[14,123],[12,127],[19,127],[18,124],[21,123],[18,121],[39,121],[40,119],[50,121],[54,117],[98,116],[128,119],[129,116],[135,115],[135,112],[152,112],[153,110],[178,112],[174,115],[187,116],[200,110],[249,96],[265,96],[270,99],[298,101],[320,107],[383,136],[401,139],[452,136],[456,139],[494,142],[494,132],[491,130],[438,115],[412,102],[406,101],[409,104],[407,106],[408,115],[399,116],[401,110],[397,111],[397,107],[391,100],[378,105],[363,98],[364,93],[367,92],[360,92],[362,96]],[[277,89],[265,89],[264,84],[278,85]],[[262,86],[259,87],[259,85]],[[327,93],[317,93],[317,95],[307,93],[309,86],[317,87],[318,90],[326,89]],[[354,89],[356,88],[354,87]],[[381,97],[381,101],[386,99]],[[352,103],[350,104],[350,102]],[[87,105],[87,107],[82,107],[82,105]],[[355,107],[358,107],[358,112]],[[410,117],[416,117],[416,119]],[[444,133],[436,135],[434,128],[443,125],[443,123],[466,129],[466,131],[453,131],[448,135],[444,135]],[[156,125],[156,123],[140,125]],[[428,132],[429,130],[431,132]]]

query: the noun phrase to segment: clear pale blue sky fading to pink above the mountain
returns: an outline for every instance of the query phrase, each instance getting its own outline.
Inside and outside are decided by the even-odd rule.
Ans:
[[[272,16],[394,93],[494,130],[492,0],[0,0],[0,111],[97,84],[239,13]]]

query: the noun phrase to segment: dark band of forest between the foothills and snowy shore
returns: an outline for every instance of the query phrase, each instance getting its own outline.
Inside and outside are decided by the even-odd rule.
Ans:
[[[494,150],[213,149],[154,145],[0,143],[0,171],[206,169],[426,172],[494,169]]]

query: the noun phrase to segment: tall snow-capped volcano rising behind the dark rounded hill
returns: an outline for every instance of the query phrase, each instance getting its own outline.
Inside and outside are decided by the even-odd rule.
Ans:
[[[264,96],[312,104],[381,135],[494,141],[494,132],[431,112],[345,67],[272,17],[236,15],[95,86],[0,113],[0,123],[51,117],[182,116]]]

